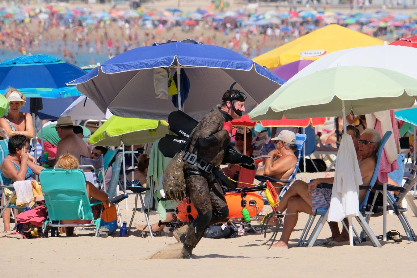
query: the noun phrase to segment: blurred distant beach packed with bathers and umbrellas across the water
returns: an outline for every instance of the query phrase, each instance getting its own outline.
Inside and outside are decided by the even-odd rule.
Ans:
[[[355,7],[233,0],[4,3],[0,60],[45,53],[80,67],[166,40],[191,38],[254,58],[331,23],[388,42],[417,32],[414,9],[362,1]]]

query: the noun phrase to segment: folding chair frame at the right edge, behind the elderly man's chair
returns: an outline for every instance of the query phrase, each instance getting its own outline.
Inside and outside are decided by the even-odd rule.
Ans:
[[[411,170],[410,175],[408,176],[406,182],[402,187],[393,186],[393,185],[387,185],[387,202],[388,202],[388,209],[394,210],[395,215],[397,215],[399,222],[401,223],[402,227],[404,228],[405,233],[407,234],[408,240],[415,241],[415,233],[412,229],[410,223],[407,220],[407,217],[405,217],[404,213],[407,211],[406,208],[401,207],[402,200],[407,196],[409,191],[414,187],[416,181],[417,181],[417,162],[414,163],[414,167]],[[370,205],[370,208],[365,212],[366,217],[365,220],[367,223],[369,223],[369,220],[371,219],[371,215],[373,213],[373,208],[375,205],[375,201],[377,200],[377,195],[379,192],[382,192],[383,188],[382,185],[375,185],[373,188],[375,191],[374,199],[372,200],[372,205]],[[398,196],[395,197],[391,193],[391,191],[397,191],[399,192]],[[382,211],[382,210],[381,210]],[[361,233],[361,238],[364,241],[364,233]]]

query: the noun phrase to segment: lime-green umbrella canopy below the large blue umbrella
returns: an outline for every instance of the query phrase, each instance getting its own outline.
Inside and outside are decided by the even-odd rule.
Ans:
[[[165,121],[111,116],[90,137],[91,145],[118,146],[153,143],[168,134]]]

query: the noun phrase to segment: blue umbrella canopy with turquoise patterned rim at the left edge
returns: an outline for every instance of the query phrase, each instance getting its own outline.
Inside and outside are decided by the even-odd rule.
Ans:
[[[24,55],[0,63],[0,93],[13,87],[27,98],[79,96],[75,86],[65,82],[83,75],[84,70],[58,58],[44,54]]]

